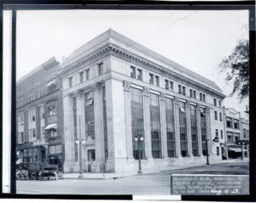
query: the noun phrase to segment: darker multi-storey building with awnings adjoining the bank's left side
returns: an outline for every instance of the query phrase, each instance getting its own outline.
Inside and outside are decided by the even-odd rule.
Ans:
[[[16,83],[17,150],[24,162],[64,161],[60,64],[51,58]]]

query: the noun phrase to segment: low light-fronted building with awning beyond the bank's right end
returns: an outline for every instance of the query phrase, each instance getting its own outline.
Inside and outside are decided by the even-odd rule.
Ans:
[[[233,108],[223,108],[224,110],[224,131],[226,138],[226,150],[228,152],[227,158],[236,159],[241,157],[241,146],[237,145],[236,142],[244,140],[244,130],[246,135],[249,133],[249,123],[247,120],[241,119],[241,113],[237,112]],[[248,147],[248,146],[247,146]],[[244,151],[247,151],[244,146]],[[247,155],[245,153],[244,155]]]

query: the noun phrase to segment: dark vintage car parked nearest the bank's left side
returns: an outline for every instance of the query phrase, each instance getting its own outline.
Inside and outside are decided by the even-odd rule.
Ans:
[[[50,178],[54,178],[55,180],[57,180],[59,178],[63,178],[63,173],[59,171],[58,165],[48,165],[42,168],[39,176],[40,180],[44,180],[44,178],[47,178],[48,180]]]

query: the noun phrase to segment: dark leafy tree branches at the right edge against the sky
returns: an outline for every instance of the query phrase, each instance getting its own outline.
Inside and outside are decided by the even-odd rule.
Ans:
[[[219,67],[226,71],[227,82],[234,79],[230,96],[238,93],[240,101],[249,95],[249,41],[240,40],[229,57],[222,59]]]

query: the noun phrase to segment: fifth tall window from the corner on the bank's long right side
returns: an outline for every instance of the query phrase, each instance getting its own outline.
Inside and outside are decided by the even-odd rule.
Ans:
[[[197,121],[196,121],[195,105],[191,105],[190,119],[191,119],[192,152],[194,156],[198,156],[198,136],[197,136]]]

